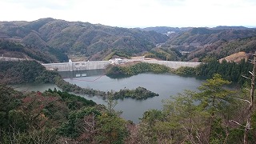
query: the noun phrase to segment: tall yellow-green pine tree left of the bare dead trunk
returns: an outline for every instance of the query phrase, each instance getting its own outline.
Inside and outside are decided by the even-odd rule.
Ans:
[[[216,133],[216,122],[219,121],[218,118],[222,111],[225,110],[227,106],[230,105],[232,98],[230,90],[226,90],[224,86],[229,85],[230,82],[224,80],[220,74],[214,74],[214,77],[207,79],[202,86],[198,87],[200,92],[194,95],[195,100],[199,102],[202,110],[210,114],[209,118],[209,138],[208,142],[214,142],[214,133]]]

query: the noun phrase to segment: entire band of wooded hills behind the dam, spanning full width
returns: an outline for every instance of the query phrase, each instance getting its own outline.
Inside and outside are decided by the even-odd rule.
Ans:
[[[126,29],[54,18],[0,22],[0,55],[41,62],[65,62],[66,55],[108,60],[141,54],[163,60],[202,61],[209,55],[224,58],[241,50],[255,50],[255,39],[256,29],[243,26]],[[12,44],[5,45],[6,41]]]

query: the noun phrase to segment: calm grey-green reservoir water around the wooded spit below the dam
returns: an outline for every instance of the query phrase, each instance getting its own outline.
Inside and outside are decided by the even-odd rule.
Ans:
[[[72,73],[72,74],[70,74]],[[75,73],[75,74],[74,74]],[[122,118],[132,120],[134,123],[139,122],[143,113],[150,109],[162,109],[162,100],[182,93],[183,90],[197,90],[201,86],[203,80],[192,77],[181,77],[175,74],[138,74],[129,78],[110,78],[103,74],[103,71],[90,71],[90,72],[64,72],[61,73],[66,82],[76,84],[83,88],[92,88],[94,90],[121,90],[121,89],[135,89],[138,86],[145,87],[154,93],[159,94],[158,97],[148,98],[146,100],[134,100],[125,98],[118,100],[118,105],[114,110],[121,110],[123,113]],[[86,77],[77,77],[78,74],[86,75]],[[30,90],[47,90],[48,88],[54,89],[53,84],[40,84],[40,85],[26,85]],[[19,88],[21,89],[21,87]],[[106,105],[105,100],[101,97],[89,97],[87,95],[80,95],[86,99],[93,100],[98,104]]]

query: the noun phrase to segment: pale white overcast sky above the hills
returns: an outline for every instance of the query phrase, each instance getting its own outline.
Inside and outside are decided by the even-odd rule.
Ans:
[[[57,18],[107,26],[256,26],[256,0],[1,0],[0,21]]]

